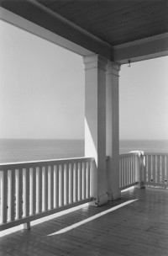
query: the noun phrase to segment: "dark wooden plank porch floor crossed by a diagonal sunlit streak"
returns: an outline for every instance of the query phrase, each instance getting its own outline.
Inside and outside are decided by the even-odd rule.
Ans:
[[[132,199],[138,200],[71,231],[47,236]],[[86,206],[30,231],[0,237],[0,255],[167,256],[168,189],[134,189],[108,205]]]

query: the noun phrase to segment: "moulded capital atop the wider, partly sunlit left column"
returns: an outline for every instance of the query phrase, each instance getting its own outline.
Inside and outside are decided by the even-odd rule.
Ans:
[[[92,68],[99,68],[106,71],[108,60],[98,54],[83,57],[83,63],[85,64],[85,70]]]

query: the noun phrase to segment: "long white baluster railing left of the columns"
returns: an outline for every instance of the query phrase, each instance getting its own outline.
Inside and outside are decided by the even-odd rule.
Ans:
[[[92,200],[92,158],[0,164],[0,231]]]

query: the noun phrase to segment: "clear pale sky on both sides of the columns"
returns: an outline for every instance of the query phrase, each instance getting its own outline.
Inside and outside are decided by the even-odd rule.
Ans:
[[[0,38],[0,138],[83,139],[82,57],[3,21]],[[167,67],[121,67],[120,139],[168,139]]]

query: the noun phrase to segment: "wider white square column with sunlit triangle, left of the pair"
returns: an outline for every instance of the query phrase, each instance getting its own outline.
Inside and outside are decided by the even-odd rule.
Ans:
[[[98,55],[84,57],[85,63],[85,156],[95,158],[97,175],[91,177],[93,205],[108,201],[106,172],[106,64]],[[94,169],[95,169],[94,168]],[[95,172],[95,171],[94,171]]]

